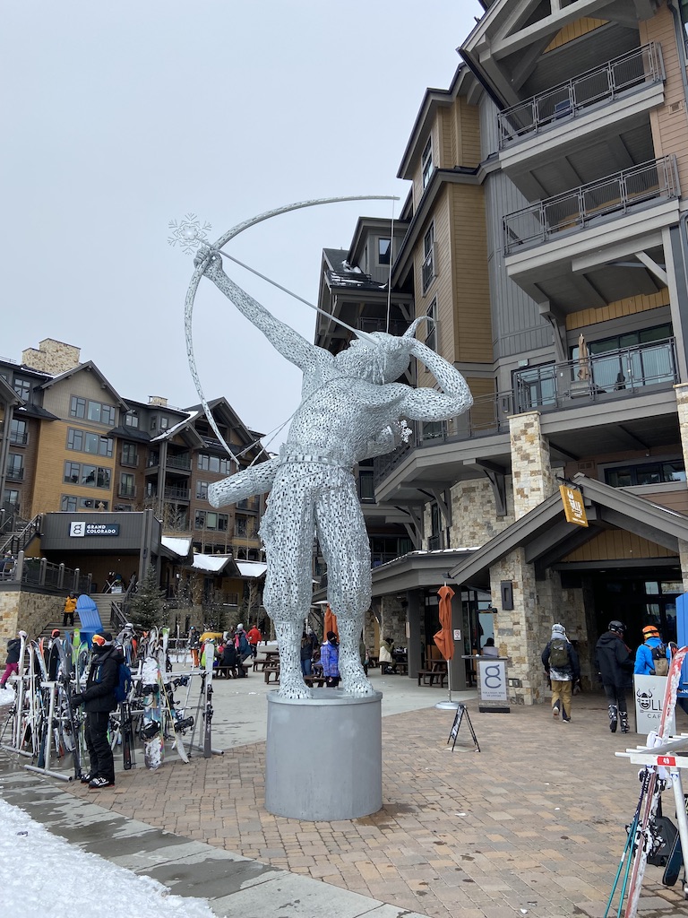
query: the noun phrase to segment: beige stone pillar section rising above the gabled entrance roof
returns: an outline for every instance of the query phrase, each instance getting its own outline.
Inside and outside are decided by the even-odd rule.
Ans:
[[[549,443],[542,435],[539,411],[509,418],[514,515],[520,520],[555,490]]]

